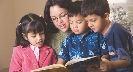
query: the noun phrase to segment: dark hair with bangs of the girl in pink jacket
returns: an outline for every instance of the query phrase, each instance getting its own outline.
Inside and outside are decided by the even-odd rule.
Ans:
[[[33,13],[29,13],[23,16],[19,22],[19,25],[16,28],[15,46],[21,45],[23,47],[27,47],[30,44],[29,41],[24,39],[22,33],[27,36],[29,32],[39,33],[43,30],[46,36],[46,24],[42,16],[38,16]]]

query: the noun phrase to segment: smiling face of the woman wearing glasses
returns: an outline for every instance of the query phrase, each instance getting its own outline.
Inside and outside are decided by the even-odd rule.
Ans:
[[[62,32],[66,32],[69,29],[69,20],[67,10],[60,8],[58,5],[50,7],[50,17],[56,28]]]

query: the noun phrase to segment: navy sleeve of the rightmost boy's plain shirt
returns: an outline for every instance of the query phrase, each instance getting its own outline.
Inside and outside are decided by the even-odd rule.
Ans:
[[[113,33],[113,46],[115,47],[118,59],[124,59],[131,61],[129,55],[130,49],[130,34],[126,31],[116,31]],[[133,44],[133,43],[132,43]]]

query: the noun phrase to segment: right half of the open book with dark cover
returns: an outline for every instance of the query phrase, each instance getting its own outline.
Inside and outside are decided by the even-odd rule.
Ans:
[[[101,72],[100,57],[97,56],[71,60],[65,66],[72,72],[90,72],[92,69],[95,70],[93,72]]]

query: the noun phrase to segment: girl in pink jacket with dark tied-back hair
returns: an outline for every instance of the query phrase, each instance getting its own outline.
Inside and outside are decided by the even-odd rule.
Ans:
[[[30,72],[57,62],[54,50],[45,45],[46,25],[43,17],[29,13],[16,28],[16,48],[9,72]]]

